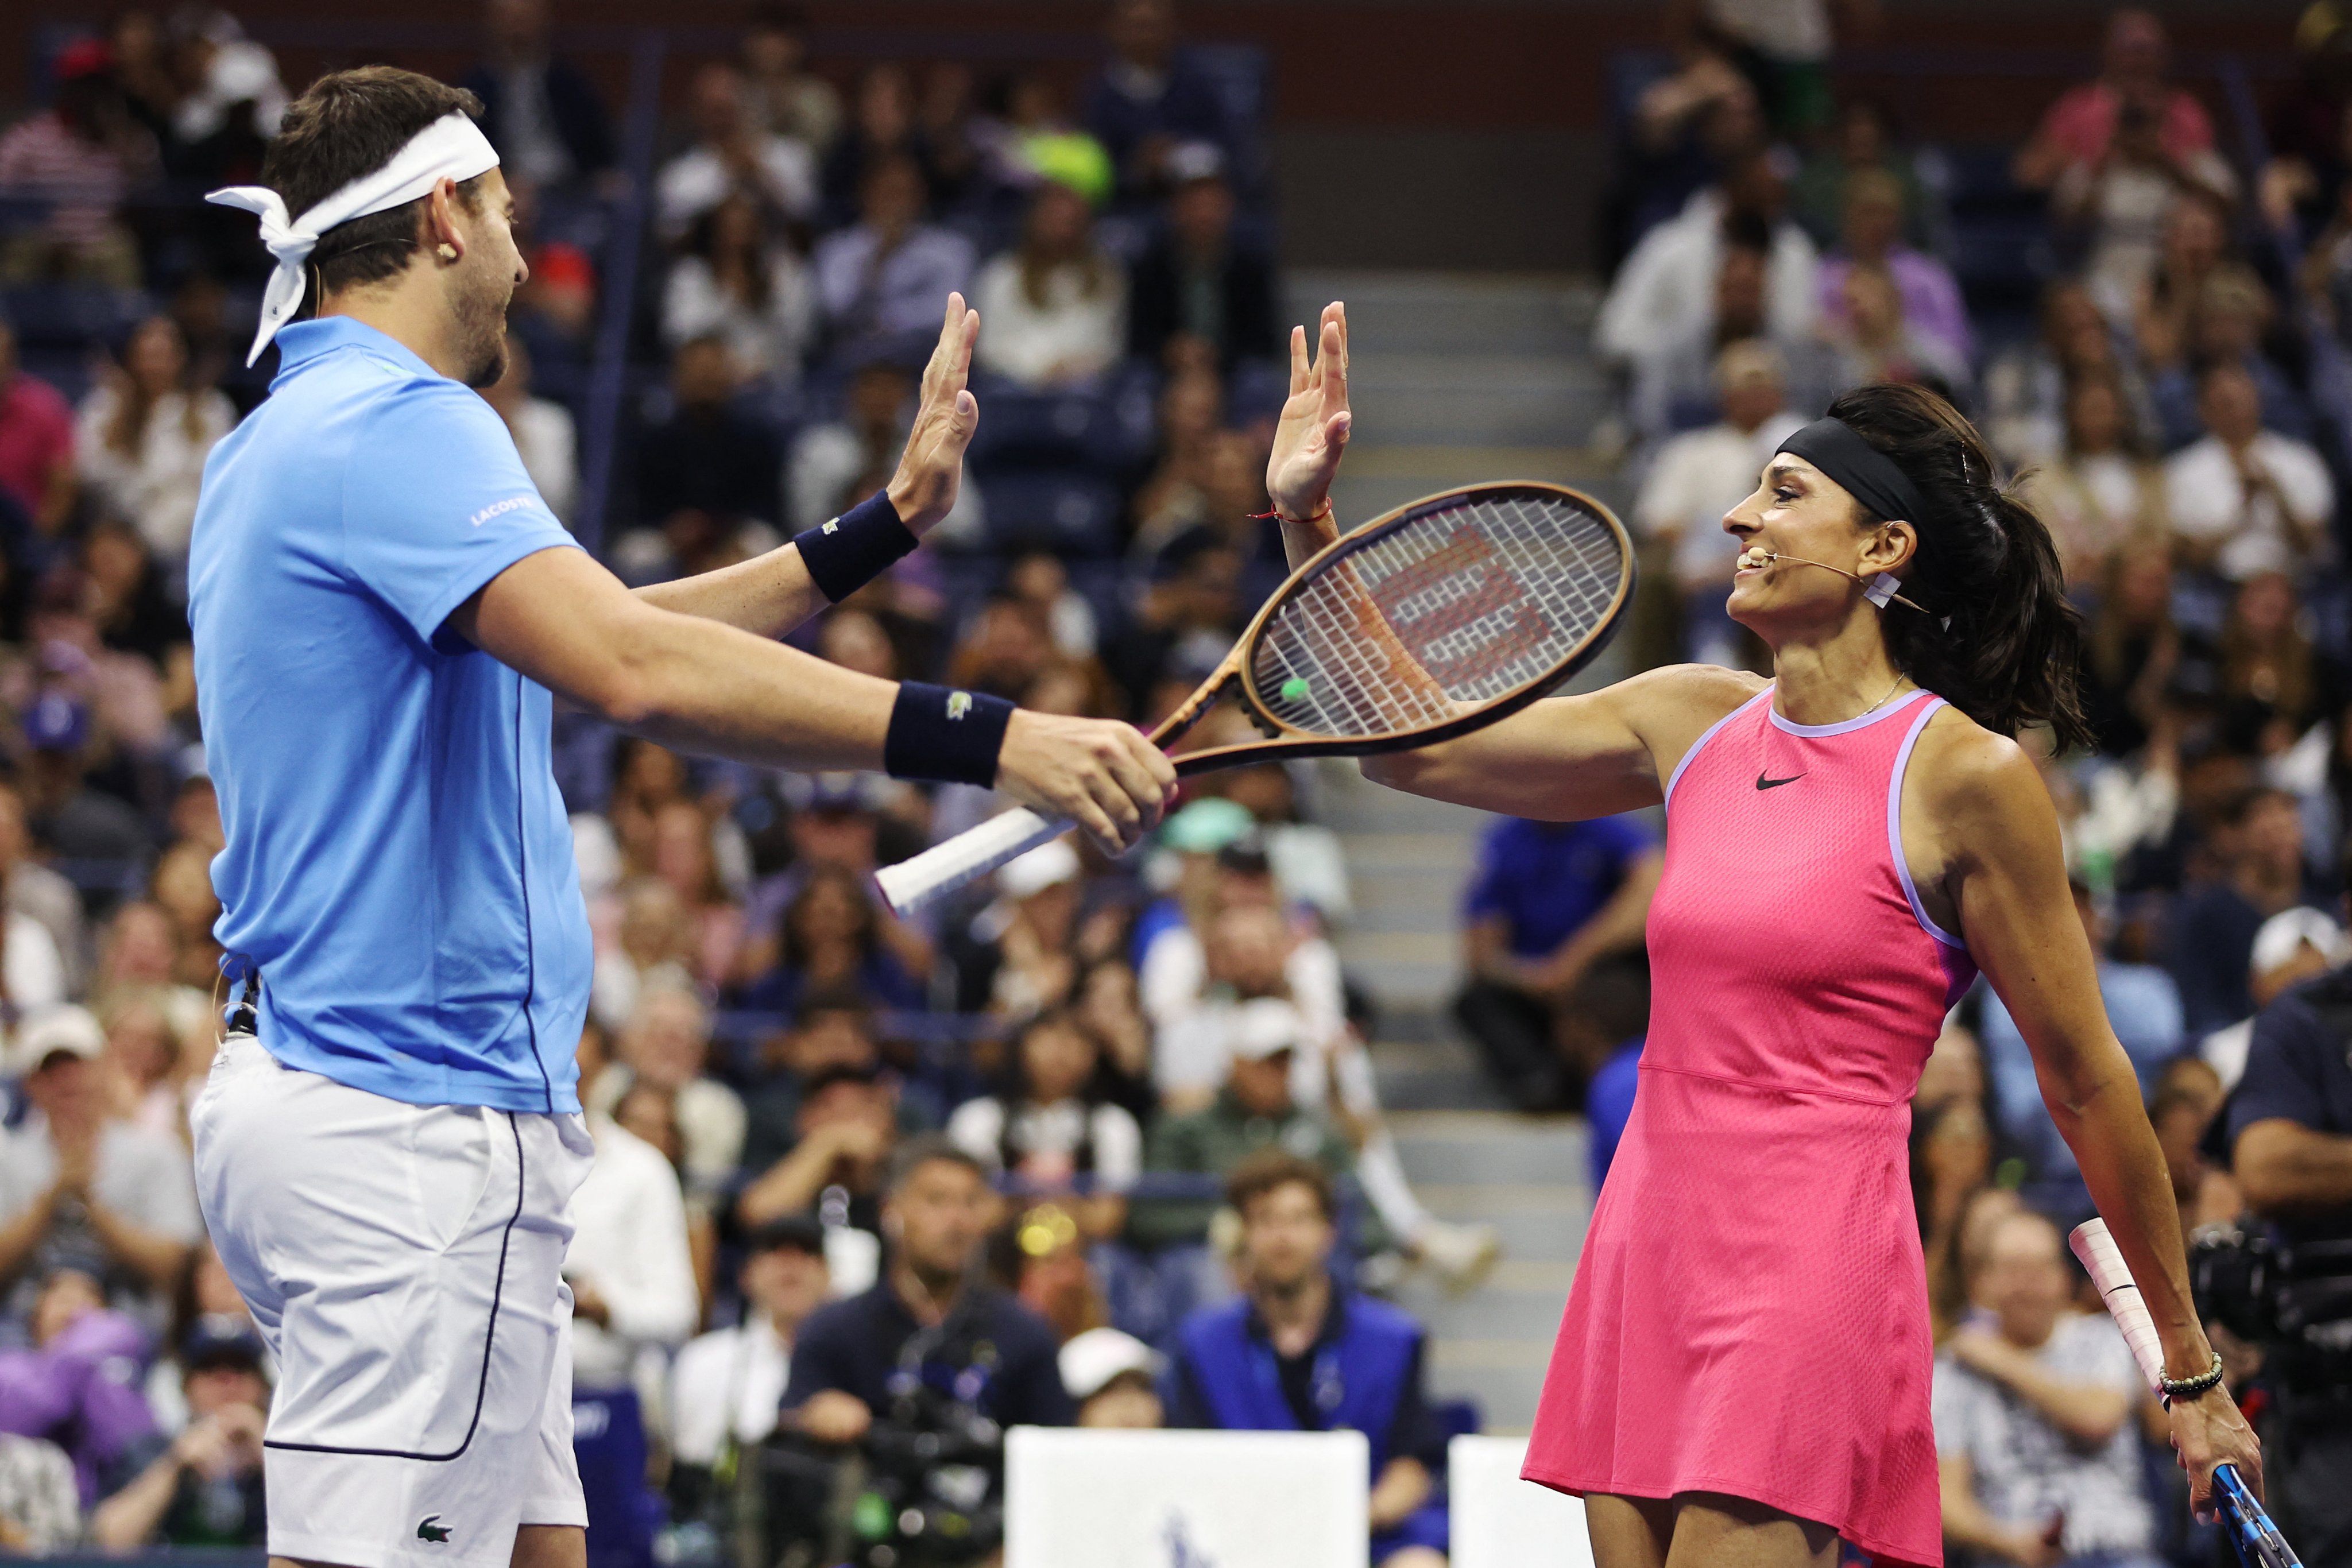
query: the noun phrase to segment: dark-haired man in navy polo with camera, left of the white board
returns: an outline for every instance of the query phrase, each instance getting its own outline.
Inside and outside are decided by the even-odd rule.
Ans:
[[[800,1328],[783,1429],[863,1453],[877,1519],[957,1519],[887,1561],[978,1561],[995,1544],[1007,1427],[1068,1427],[1058,1345],[1042,1316],[981,1274],[995,1194],[946,1138],[913,1138],[882,1199],[882,1279]],[[962,1549],[957,1547],[962,1542]],[[858,1559],[868,1561],[868,1559]],[[882,1559],[873,1559],[882,1561]]]

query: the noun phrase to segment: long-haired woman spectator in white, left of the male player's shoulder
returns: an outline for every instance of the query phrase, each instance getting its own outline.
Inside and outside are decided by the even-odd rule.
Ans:
[[[139,529],[155,559],[179,567],[188,555],[205,456],[235,423],[238,411],[221,393],[188,386],[179,324],[151,315],[82,400],[73,444],[82,487]]]

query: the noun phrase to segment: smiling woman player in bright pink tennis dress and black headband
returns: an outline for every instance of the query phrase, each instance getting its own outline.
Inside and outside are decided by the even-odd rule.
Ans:
[[[1348,322],[1291,397],[1268,491],[1331,538]],[[1724,529],[1773,679],[1705,665],[1536,703],[1378,783],[1531,818],[1665,804],[1642,1091],[1585,1234],[1526,1476],[1585,1497],[1599,1568],[1940,1563],[1907,1100],[1978,969],[2164,1338],[2206,1509],[2260,1450],[2190,1305],[2171,1182],[2098,999],[2058,818],[2016,743],[2086,741],[2077,616],[2042,522],[1940,397],[1870,386],[1783,442]]]

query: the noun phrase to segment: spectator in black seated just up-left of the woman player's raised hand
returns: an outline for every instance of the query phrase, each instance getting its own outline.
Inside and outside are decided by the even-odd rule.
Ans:
[[[1204,348],[1221,369],[1275,355],[1282,346],[1275,266],[1235,235],[1225,155],[1214,143],[1188,141],[1169,150],[1162,167],[1167,230],[1134,268],[1127,353],[1167,364],[1181,341],[1185,348],[1174,353]]]

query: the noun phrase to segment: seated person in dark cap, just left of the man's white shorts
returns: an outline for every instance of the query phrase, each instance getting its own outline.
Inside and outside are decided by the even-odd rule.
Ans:
[[[141,1547],[235,1547],[268,1540],[261,1427],[270,1382],[261,1335],[249,1326],[200,1331],[181,1349],[188,1425],[176,1436],[136,1443],[132,1481],[89,1516],[106,1552]]]

